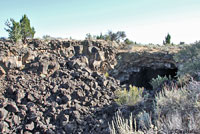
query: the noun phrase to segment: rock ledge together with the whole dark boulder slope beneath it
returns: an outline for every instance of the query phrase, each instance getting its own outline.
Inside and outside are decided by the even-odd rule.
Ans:
[[[104,41],[0,42],[0,132],[109,133],[119,81],[105,77],[116,48]]]

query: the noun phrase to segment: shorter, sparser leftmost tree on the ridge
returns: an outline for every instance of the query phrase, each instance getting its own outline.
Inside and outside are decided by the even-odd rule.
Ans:
[[[5,25],[8,27],[7,29],[5,28],[5,30],[9,34],[9,39],[16,43],[22,38],[21,27],[19,22],[16,22],[14,19],[10,19],[10,21],[6,21]]]

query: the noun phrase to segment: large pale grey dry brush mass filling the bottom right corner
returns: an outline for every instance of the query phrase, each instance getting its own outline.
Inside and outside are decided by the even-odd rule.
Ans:
[[[158,128],[164,133],[200,133],[200,82],[165,87],[157,97]]]

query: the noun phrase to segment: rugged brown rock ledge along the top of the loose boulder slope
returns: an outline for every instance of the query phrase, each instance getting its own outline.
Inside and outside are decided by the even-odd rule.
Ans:
[[[48,57],[50,54],[54,57],[68,59],[80,57],[80,62],[94,71],[106,72],[116,65],[117,44],[114,42],[89,40],[52,40],[45,42],[33,40],[27,46],[13,46],[9,41],[1,41],[0,48],[0,66],[1,70],[4,69],[4,72],[7,72],[8,69],[23,68],[23,65],[27,62],[36,58]],[[46,63],[43,64],[47,67]]]

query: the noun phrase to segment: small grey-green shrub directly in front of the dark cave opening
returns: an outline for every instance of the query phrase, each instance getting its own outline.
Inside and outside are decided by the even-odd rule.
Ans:
[[[157,89],[170,79],[171,77],[167,78],[167,76],[161,77],[160,75],[158,75],[157,78],[153,78],[151,80],[150,84],[152,85],[153,89]]]

